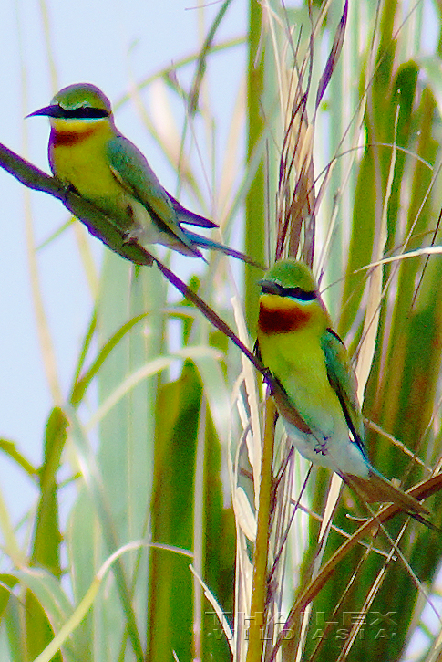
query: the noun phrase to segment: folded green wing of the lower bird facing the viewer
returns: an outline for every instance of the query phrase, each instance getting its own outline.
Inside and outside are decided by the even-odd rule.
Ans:
[[[326,329],[321,338],[321,347],[324,352],[328,381],[338,396],[355,444],[368,459],[364,444],[364,419],[357,402],[355,371],[348,358],[344,342],[332,329]]]

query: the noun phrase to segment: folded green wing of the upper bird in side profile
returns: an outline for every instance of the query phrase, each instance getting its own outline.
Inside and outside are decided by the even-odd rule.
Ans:
[[[124,136],[118,136],[108,141],[107,157],[109,167],[118,182],[146,207],[152,223],[176,236],[195,252],[189,237],[180,228],[169,195],[159,184],[157,175],[138,147]]]

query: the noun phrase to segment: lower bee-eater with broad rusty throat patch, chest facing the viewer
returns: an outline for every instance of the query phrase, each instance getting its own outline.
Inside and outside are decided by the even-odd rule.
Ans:
[[[311,270],[282,260],[260,284],[257,352],[295,410],[292,417],[290,407],[278,407],[294,446],[314,464],[338,473],[367,501],[396,503],[428,523],[419,501],[370,464],[355,373]]]

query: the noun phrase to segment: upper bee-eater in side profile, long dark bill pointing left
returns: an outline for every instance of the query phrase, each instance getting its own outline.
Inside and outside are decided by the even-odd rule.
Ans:
[[[192,257],[202,257],[200,247],[211,248],[254,264],[239,251],[181,226],[218,227],[185,209],[159,184],[143,154],[118,131],[110,101],[95,85],[60,89],[49,106],[27,117],[35,115],[46,115],[51,124],[48,152],[54,175],[108,215],[125,242],[163,244]]]

